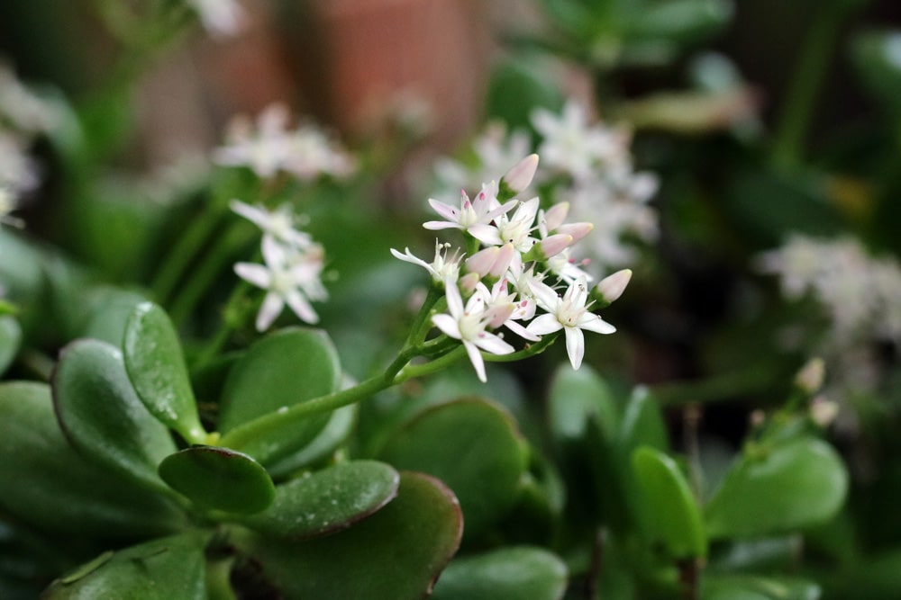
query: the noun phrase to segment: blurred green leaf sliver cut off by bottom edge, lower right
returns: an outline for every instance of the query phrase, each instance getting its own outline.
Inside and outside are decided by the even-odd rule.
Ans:
[[[701,583],[701,600],[819,600],[820,587],[800,578],[713,575]]]

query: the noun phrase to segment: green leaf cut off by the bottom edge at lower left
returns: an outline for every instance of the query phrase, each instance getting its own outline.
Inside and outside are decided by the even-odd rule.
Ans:
[[[46,600],[205,600],[207,540],[181,533],[108,552],[57,579]]]

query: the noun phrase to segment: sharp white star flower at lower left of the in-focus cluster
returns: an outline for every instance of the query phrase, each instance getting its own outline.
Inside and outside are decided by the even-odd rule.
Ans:
[[[446,335],[459,339],[466,348],[469,361],[476,370],[478,380],[487,381],[485,376],[485,361],[480,350],[491,354],[511,354],[514,347],[503,339],[486,331],[486,327],[497,318],[498,309],[486,309],[485,301],[478,294],[473,294],[466,306],[460,296],[457,284],[448,282],[445,286],[445,295],[448,302],[448,313],[432,316],[432,323],[441,329]],[[512,310],[510,311],[512,313]],[[509,317],[509,314],[507,316]]]

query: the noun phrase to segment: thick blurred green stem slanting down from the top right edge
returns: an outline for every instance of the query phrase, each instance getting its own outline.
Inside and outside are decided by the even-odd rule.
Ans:
[[[807,31],[778,116],[773,146],[773,159],[778,166],[793,167],[803,160],[804,141],[816,100],[822,92],[842,23],[855,8],[853,4],[825,2]]]

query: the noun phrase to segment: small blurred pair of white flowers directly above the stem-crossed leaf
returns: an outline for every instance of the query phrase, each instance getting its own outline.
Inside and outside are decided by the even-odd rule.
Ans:
[[[263,231],[263,264],[234,265],[241,279],[267,291],[257,314],[257,330],[268,329],[286,304],[301,320],[317,323],[319,316],[310,302],[328,299],[322,282],[323,246],[295,228],[296,217],[287,204],[272,211],[241,201],[232,201],[231,206]]]

